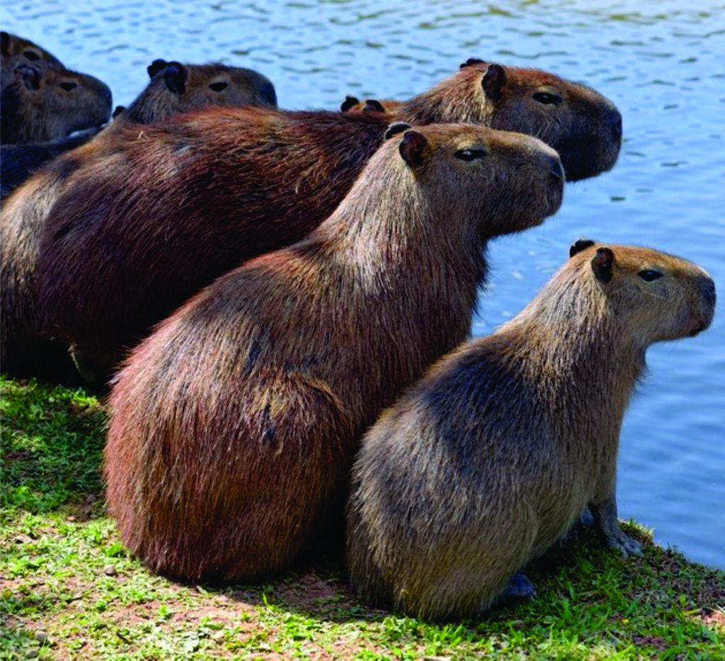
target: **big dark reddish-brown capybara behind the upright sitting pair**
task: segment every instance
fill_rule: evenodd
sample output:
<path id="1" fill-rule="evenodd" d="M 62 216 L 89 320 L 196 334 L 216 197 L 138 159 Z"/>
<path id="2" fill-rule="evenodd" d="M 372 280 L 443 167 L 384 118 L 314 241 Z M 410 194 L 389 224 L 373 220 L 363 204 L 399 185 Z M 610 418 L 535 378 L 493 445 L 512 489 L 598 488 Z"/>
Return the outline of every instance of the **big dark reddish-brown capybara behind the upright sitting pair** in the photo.
<path id="1" fill-rule="evenodd" d="M 541 89 L 558 103 L 538 101 Z M 620 142 L 621 118 L 604 97 L 500 65 L 464 67 L 395 115 L 209 109 L 129 132 L 77 173 L 49 214 L 43 327 L 97 372 L 112 369 L 215 277 L 318 226 L 387 122 L 406 117 L 544 134 L 576 176 L 610 168 Z"/>

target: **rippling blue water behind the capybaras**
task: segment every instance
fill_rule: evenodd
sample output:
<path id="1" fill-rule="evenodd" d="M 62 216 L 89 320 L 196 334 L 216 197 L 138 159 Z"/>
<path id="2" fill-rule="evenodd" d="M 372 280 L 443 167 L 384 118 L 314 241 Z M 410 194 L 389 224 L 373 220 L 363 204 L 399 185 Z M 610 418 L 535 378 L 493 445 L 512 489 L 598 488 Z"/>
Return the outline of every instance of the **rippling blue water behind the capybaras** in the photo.
<path id="1" fill-rule="evenodd" d="M 406 98 L 468 57 L 586 81 L 624 115 L 611 173 L 569 185 L 543 226 L 497 241 L 474 332 L 518 312 L 580 236 L 651 245 L 708 269 L 708 332 L 655 345 L 626 415 L 620 515 L 725 568 L 725 4 L 721 1 L 4 0 L 2 29 L 93 73 L 127 104 L 157 57 L 220 59 L 276 84 L 281 107 Z"/>

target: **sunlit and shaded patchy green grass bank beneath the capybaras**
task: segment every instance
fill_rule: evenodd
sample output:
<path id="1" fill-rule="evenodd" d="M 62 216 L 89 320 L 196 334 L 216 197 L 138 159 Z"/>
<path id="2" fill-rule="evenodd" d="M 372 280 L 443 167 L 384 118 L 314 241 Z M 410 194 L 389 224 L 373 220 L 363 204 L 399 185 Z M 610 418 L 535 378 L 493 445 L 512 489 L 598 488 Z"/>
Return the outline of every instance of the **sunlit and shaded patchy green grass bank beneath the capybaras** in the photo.
<path id="1" fill-rule="evenodd" d="M 527 570 L 536 599 L 456 623 L 370 609 L 328 565 L 224 590 L 158 578 L 104 513 L 99 401 L 0 388 L 0 658 L 725 660 L 725 572 L 632 524 L 644 557 L 581 530 Z"/>

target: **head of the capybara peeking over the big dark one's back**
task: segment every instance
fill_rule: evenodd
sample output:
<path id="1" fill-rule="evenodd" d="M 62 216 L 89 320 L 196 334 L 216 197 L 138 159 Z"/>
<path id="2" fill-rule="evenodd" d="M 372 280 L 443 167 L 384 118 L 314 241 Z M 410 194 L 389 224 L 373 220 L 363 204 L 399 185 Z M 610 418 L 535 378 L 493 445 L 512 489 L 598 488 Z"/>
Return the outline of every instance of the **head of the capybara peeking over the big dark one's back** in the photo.
<path id="1" fill-rule="evenodd" d="M 149 85 L 121 115 L 134 123 L 152 123 L 211 105 L 277 107 L 272 82 L 251 69 L 182 65 L 165 59 L 154 59 L 146 69 Z"/>

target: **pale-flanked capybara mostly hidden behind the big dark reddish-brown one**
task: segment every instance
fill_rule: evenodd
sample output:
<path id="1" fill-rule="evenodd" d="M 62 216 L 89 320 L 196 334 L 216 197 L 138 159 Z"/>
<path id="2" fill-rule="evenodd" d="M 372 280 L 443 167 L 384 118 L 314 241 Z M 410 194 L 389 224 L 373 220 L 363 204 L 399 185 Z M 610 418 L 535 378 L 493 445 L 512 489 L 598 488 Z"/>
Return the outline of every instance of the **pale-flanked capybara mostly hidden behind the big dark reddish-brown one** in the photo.
<path id="1" fill-rule="evenodd" d="M 143 139 L 138 124 L 167 118 L 210 104 L 235 106 L 259 104 L 273 107 L 276 94 L 265 76 L 249 69 L 220 64 L 182 65 L 156 59 L 147 67 L 149 84 L 113 122 L 88 144 L 48 163 L 8 198 L 3 208 L 0 246 L 0 366 L 14 376 L 57 378 L 65 373 L 65 356 L 43 343 L 36 316 L 36 263 L 46 216 L 76 171 L 88 163 L 114 167 L 117 139 Z M 19 146 L 17 147 L 20 148 Z M 4 153 L 4 152 L 3 152 Z M 3 168 L 5 160 L 3 155 Z M 7 165 L 12 165 L 10 161 Z M 4 169 L 3 169 L 4 173 Z M 22 176 L 20 173 L 18 176 Z M 81 175 L 82 177 L 82 175 Z M 3 183 L 5 176 L 3 175 Z M 65 353 L 62 348 L 61 354 Z"/>

